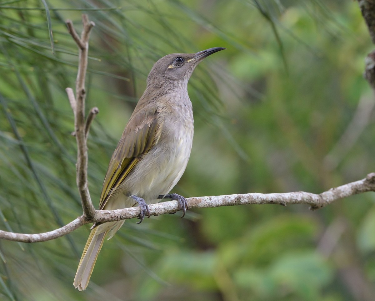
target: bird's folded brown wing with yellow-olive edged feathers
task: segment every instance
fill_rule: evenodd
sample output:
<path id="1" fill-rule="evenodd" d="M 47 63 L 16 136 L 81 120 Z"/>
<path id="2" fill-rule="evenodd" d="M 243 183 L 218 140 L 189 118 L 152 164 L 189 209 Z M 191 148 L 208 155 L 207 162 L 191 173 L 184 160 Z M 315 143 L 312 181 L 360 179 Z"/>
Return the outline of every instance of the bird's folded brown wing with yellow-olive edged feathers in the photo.
<path id="1" fill-rule="evenodd" d="M 141 155 L 147 153 L 159 140 L 157 114 L 155 107 L 149 107 L 134 111 L 130 117 L 108 166 L 99 202 L 100 210 L 139 162 Z"/>

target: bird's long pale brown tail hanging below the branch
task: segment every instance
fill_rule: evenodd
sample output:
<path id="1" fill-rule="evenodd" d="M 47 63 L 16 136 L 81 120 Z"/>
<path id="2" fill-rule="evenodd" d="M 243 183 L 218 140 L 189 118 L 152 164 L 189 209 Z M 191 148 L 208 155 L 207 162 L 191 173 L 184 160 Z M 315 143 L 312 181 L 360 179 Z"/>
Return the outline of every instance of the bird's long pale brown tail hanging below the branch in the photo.
<path id="1" fill-rule="evenodd" d="M 78 265 L 77 273 L 74 277 L 73 284 L 78 290 L 86 289 L 87 284 L 89 284 L 96 259 L 98 258 L 99 252 L 103 246 L 104 237 L 108 232 L 108 230 L 98 231 L 98 228 L 100 228 L 100 226 L 91 230 Z"/>

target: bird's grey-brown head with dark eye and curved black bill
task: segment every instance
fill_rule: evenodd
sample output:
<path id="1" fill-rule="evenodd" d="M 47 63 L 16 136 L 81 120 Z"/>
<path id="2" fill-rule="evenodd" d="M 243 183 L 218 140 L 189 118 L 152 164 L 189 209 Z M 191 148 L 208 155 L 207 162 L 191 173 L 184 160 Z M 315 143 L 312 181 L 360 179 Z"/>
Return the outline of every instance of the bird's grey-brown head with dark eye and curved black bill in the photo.
<path id="1" fill-rule="evenodd" d="M 173 53 L 159 59 L 148 74 L 151 79 L 189 80 L 196 65 L 205 57 L 226 48 L 214 47 L 197 53 Z"/>

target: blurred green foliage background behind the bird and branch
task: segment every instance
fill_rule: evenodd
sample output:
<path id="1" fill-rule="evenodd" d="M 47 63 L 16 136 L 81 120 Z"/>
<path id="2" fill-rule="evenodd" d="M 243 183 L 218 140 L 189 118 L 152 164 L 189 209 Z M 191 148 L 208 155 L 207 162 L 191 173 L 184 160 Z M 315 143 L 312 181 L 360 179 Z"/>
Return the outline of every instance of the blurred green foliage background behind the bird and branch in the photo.
<path id="1" fill-rule="evenodd" d="M 356 1 L 2 0 L 0 228 L 39 233 L 82 214 L 73 114 L 78 50 L 90 39 L 87 111 L 95 206 L 108 161 L 153 63 L 214 54 L 189 83 L 195 136 L 173 190 L 186 197 L 309 191 L 375 171 L 374 48 Z M 51 32 L 53 37 L 51 37 Z M 51 42 L 52 41 L 52 42 Z M 0 241 L 0 300 L 374 300 L 375 194 L 308 206 L 233 206 L 126 221 L 89 288 L 72 282 L 86 225 L 53 241 Z"/>

